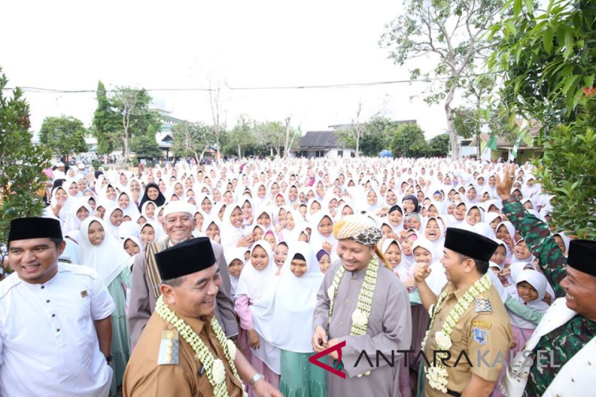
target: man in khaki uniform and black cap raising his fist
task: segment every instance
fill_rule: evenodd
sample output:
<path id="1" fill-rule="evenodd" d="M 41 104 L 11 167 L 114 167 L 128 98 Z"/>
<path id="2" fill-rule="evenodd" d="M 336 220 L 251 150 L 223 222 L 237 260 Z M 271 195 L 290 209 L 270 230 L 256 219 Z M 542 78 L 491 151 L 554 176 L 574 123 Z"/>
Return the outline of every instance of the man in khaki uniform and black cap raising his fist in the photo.
<path id="1" fill-rule="evenodd" d="M 421 362 L 418 376 L 425 396 L 489 396 L 495 388 L 511 343 L 507 310 L 487 273 L 497 246 L 478 233 L 448 227 L 440 259 L 448 283 L 439 296 L 425 281 L 429 267 L 415 265 L 418 293 L 430 314 L 421 346 L 429 362 Z M 439 357 L 438 351 L 449 353 Z"/>

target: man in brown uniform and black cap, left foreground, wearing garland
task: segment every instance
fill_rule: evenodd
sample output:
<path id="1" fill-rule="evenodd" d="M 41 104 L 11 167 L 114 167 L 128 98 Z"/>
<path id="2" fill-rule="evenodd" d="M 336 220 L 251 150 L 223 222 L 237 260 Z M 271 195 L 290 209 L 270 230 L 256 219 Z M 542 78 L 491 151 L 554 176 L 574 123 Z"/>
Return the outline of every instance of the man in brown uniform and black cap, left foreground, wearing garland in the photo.
<path id="1" fill-rule="evenodd" d="M 207 237 L 156 255 L 160 296 L 124 374 L 125 397 L 282 397 L 226 339 L 215 319 L 221 270 Z"/>

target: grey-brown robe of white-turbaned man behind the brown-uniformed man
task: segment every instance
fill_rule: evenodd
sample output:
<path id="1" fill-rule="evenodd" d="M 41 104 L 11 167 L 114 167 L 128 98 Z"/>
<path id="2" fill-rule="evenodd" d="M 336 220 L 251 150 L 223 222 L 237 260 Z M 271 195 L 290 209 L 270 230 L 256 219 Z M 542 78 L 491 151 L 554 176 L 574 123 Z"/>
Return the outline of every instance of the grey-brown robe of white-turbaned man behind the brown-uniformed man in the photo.
<path id="1" fill-rule="evenodd" d="M 169 244 L 170 245 L 170 244 Z M 231 283 L 229 281 L 228 264 L 224 258 L 224 249 L 221 245 L 211 242 L 213 254 L 219 266 L 222 286 L 216 295 L 215 317 L 228 337 L 238 335 L 238 323 L 234 312 L 234 302 L 231 296 Z M 132 265 L 131 302 L 128 308 L 128 329 L 131 334 L 131 348 L 141 337 L 151 314 L 155 311 L 156 298 L 153 296 L 153 287 L 147 277 L 145 269 L 145 252 L 135 255 Z"/>

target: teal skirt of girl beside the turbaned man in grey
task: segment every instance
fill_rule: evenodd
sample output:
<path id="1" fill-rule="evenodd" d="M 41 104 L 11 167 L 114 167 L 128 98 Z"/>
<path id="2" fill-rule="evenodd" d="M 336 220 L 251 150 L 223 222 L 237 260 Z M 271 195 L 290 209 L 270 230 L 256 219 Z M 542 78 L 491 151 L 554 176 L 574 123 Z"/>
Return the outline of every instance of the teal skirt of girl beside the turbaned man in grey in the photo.
<path id="1" fill-rule="evenodd" d="M 311 364 L 315 353 L 281 351 L 280 392 L 284 397 L 327 397 L 327 371 Z"/>

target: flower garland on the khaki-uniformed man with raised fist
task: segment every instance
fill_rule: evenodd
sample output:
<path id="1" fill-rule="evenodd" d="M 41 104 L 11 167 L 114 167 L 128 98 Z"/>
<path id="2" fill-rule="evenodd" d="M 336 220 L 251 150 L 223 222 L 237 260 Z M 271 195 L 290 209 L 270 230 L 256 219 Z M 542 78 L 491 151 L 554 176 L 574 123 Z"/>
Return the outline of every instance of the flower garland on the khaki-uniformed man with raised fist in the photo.
<path id="1" fill-rule="evenodd" d="M 484 276 L 480 277 L 479 280 L 476 280 L 476 282 L 464 293 L 464 296 L 462 296 L 461 299 L 458 300 L 457 304 L 455 304 L 455 306 L 451 309 L 451 311 L 449 311 L 447 318 L 443 322 L 443 327 L 441 330 L 434 333 L 434 341 L 437 344 L 437 348 L 440 350 L 449 350 L 451 348 L 451 332 L 453 331 L 455 324 L 460 321 L 461 316 L 465 313 L 465 311 L 468 310 L 472 302 L 474 302 L 481 293 L 486 292 L 486 290 L 488 290 L 491 286 L 491 279 L 489 279 L 488 274 L 485 274 Z M 437 304 L 431 305 L 429 308 L 430 324 L 429 329 L 427 329 L 424 339 L 421 343 L 422 349 L 424 349 L 424 346 L 426 346 L 426 340 L 429 337 L 430 330 L 433 329 L 436 312 L 447 295 L 447 290 L 443 290 L 437 299 Z M 430 387 L 446 393 L 447 383 L 449 381 L 447 379 L 447 368 L 445 368 L 442 361 L 440 360 L 443 357 L 446 358 L 447 355 L 445 353 L 437 354 L 437 358 L 439 358 L 439 360 L 437 360 L 436 367 L 424 367 L 424 372 L 426 373 L 426 379 L 429 380 Z"/>

